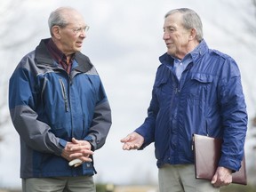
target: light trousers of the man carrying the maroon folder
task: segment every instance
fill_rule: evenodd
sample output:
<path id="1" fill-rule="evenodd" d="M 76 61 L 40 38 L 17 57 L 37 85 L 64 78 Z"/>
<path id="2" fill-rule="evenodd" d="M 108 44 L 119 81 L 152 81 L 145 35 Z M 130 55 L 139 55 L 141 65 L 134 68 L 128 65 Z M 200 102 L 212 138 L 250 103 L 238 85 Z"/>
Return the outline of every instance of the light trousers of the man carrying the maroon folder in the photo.
<path id="1" fill-rule="evenodd" d="M 160 192 L 220 192 L 209 180 L 196 180 L 194 164 L 164 164 L 158 170 Z"/>

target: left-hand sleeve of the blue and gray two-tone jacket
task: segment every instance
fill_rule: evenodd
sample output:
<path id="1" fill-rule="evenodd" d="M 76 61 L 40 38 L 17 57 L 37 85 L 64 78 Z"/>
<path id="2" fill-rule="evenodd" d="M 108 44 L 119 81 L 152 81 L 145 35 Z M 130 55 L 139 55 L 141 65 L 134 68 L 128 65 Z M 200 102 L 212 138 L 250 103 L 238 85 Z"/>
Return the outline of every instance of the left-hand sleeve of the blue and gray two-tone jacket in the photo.
<path id="1" fill-rule="evenodd" d="M 20 140 L 25 142 L 29 148 L 43 153 L 59 155 L 66 145 L 64 140 L 56 138 L 50 127 L 37 120 L 36 105 L 36 77 L 33 71 L 31 59 L 24 58 L 14 70 L 9 82 L 9 108 L 12 124 L 20 134 Z M 26 66 L 26 67 L 24 67 Z M 35 69 L 35 68 L 34 68 Z"/>

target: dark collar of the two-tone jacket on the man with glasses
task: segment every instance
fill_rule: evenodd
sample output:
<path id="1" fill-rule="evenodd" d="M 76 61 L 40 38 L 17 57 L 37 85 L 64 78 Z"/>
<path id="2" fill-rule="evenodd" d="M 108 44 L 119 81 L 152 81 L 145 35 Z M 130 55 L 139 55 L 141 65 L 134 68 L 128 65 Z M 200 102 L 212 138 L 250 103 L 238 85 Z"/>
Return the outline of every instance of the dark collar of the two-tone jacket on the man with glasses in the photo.
<path id="1" fill-rule="evenodd" d="M 50 41 L 50 38 L 42 39 L 40 44 L 36 47 L 36 65 L 44 65 L 51 68 L 58 68 L 58 65 L 54 62 L 50 52 L 46 47 L 48 41 Z M 75 53 L 75 60 L 78 64 L 75 69 L 83 73 L 89 71 L 93 67 L 92 62 L 89 60 L 89 58 L 81 52 Z"/>

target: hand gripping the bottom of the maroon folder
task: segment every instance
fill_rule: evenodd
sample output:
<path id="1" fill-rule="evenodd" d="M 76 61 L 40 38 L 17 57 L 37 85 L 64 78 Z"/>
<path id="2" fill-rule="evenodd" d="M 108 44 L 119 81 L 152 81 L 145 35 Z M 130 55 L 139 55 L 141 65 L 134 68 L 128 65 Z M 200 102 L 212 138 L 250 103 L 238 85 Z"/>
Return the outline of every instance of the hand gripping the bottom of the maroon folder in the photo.
<path id="1" fill-rule="evenodd" d="M 220 188 L 221 186 L 228 186 L 231 182 L 232 171 L 225 167 L 218 167 L 211 181 L 212 185 L 215 188 Z"/>

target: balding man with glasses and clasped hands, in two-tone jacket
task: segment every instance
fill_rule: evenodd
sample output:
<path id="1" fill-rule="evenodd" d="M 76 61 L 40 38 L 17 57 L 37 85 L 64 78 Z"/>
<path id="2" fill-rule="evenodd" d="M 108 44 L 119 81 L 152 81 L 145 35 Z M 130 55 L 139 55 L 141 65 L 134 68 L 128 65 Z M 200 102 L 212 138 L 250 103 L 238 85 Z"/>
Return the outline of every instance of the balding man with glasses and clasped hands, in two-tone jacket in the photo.
<path id="1" fill-rule="evenodd" d="M 80 52 L 89 27 L 81 13 L 60 7 L 49 28 L 52 38 L 28 53 L 10 79 L 22 190 L 95 192 L 92 154 L 105 143 L 111 110 L 99 74 Z"/>

